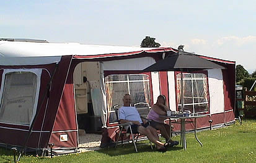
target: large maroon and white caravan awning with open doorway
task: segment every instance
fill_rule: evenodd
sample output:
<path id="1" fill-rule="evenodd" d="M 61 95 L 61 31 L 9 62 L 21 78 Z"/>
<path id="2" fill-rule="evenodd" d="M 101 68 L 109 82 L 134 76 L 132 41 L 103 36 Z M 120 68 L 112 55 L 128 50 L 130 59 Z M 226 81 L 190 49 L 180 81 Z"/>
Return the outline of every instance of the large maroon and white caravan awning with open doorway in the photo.
<path id="1" fill-rule="evenodd" d="M 113 106 L 130 93 L 149 107 L 159 94 L 172 111 L 180 108 L 180 72 L 145 72 L 172 48 L 100 46 L 46 41 L 0 41 L 0 146 L 26 146 L 45 153 L 75 152 L 79 128 L 116 141 Z M 184 106 L 209 116 L 198 128 L 234 122 L 235 62 L 200 56 L 226 69 L 183 73 Z M 193 126 L 187 126 L 188 129 Z M 174 130 L 179 130 L 175 126 Z"/>

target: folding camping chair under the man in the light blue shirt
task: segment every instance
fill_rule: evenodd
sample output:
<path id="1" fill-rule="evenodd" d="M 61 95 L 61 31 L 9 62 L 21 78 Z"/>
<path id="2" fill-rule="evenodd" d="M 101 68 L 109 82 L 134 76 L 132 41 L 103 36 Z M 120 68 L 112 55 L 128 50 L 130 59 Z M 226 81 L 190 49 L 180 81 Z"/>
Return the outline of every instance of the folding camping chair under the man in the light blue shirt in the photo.
<path id="1" fill-rule="evenodd" d="M 115 110 L 115 114 L 117 115 L 117 119 L 118 119 L 118 111 L 119 111 L 119 108 L 121 107 L 121 105 L 115 105 L 113 106 L 114 110 Z M 123 136 L 125 136 L 126 134 L 130 134 L 131 138 L 132 138 L 132 143 L 134 144 L 135 146 L 135 151 L 138 153 L 138 150 L 137 150 L 137 146 L 136 146 L 136 143 L 138 141 L 138 138 L 139 136 L 142 136 L 140 133 L 136 132 L 136 133 L 133 133 L 132 130 L 131 130 L 131 125 L 133 125 L 133 123 L 131 122 L 127 122 L 127 123 L 120 123 L 119 120 L 118 120 L 118 126 L 119 126 L 119 129 L 116 131 L 116 133 L 118 133 L 118 138 L 117 138 L 117 143 L 115 144 L 115 148 L 117 148 L 117 144 L 118 144 L 118 141 L 119 141 L 119 138 L 121 137 L 121 144 L 123 145 Z M 125 130 L 125 127 L 128 126 L 130 128 L 130 132 L 126 132 Z M 128 140 L 130 142 L 130 140 Z M 151 141 L 149 141 L 150 144 L 151 144 L 151 149 L 152 148 L 152 143 Z"/>

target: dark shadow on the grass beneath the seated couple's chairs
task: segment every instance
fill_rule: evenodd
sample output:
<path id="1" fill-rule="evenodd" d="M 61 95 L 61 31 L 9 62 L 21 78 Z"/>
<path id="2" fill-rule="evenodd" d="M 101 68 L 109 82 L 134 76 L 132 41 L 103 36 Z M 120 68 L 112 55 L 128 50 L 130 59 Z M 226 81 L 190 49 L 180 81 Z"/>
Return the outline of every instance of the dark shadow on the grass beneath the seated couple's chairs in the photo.
<path id="1" fill-rule="evenodd" d="M 137 144 L 138 153 L 161 153 L 157 151 L 156 148 L 151 149 L 151 146 L 148 144 Z M 175 147 L 169 147 L 167 151 L 178 151 L 182 150 L 181 146 L 175 146 Z M 126 154 L 135 154 L 135 147 L 133 144 L 125 144 L 123 146 L 119 145 L 117 148 L 104 148 L 100 149 L 99 151 L 95 151 L 97 153 L 107 154 L 108 156 L 120 156 L 120 155 L 126 155 Z"/>

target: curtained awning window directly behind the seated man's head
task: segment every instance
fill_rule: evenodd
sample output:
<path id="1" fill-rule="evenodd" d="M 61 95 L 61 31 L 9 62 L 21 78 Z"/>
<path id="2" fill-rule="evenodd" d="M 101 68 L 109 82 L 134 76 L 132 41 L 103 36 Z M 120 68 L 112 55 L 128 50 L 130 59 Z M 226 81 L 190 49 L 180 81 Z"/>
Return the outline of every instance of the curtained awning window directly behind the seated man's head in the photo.
<path id="1" fill-rule="evenodd" d="M 149 93 L 149 76 L 144 74 L 115 74 L 105 77 L 107 90 L 107 107 L 108 111 L 113 110 L 113 106 L 123 104 L 123 95 L 131 94 L 131 102 L 146 102 L 151 104 Z M 110 121 L 112 119 L 110 112 Z"/>

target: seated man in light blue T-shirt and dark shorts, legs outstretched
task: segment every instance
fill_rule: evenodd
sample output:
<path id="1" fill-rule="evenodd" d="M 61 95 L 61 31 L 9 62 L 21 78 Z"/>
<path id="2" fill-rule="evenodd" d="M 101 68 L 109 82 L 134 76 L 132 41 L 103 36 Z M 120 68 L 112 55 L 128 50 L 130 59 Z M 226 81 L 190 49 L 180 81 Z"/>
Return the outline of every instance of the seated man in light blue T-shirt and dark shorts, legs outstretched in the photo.
<path id="1" fill-rule="evenodd" d="M 130 94 L 125 94 L 123 96 L 123 107 L 119 109 L 119 120 L 120 123 L 131 122 L 131 130 L 133 133 L 141 133 L 148 137 L 149 141 L 156 144 L 158 151 L 166 152 L 169 146 L 169 143 L 161 143 L 159 141 L 156 129 L 152 128 L 149 123 L 143 123 L 139 112 L 135 107 L 131 107 L 131 96 Z M 128 126 L 125 128 L 129 132 L 130 128 Z"/>

